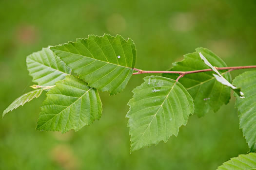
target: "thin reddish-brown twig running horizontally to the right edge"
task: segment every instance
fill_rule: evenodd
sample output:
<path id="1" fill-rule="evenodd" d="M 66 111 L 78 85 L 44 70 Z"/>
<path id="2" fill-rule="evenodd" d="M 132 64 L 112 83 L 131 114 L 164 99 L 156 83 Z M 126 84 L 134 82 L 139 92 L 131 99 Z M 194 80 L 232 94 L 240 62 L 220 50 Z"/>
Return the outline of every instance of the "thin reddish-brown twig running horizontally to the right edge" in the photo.
<path id="1" fill-rule="evenodd" d="M 235 70 L 235 69 L 247 69 L 247 68 L 256 68 L 256 66 L 237 66 L 237 67 L 224 67 L 224 68 L 217 68 L 217 70 L 223 70 L 223 69 L 228 69 L 229 71 Z M 135 74 L 145 74 L 145 73 L 169 73 L 169 74 L 180 74 L 180 75 L 186 75 L 186 74 L 192 74 L 192 73 L 198 73 L 198 72 L 206 72 L 206 71 L 212 71 L 211 68 L 209 69 L 200 69 L 200 70 L 193 70 L 193 71 L 144 71 L 141 69 L 133 68 L 134 70 L 138 72 L 134 72 L 133 75 Z M 182 77 L 183 77 L 182 76 Z"/>

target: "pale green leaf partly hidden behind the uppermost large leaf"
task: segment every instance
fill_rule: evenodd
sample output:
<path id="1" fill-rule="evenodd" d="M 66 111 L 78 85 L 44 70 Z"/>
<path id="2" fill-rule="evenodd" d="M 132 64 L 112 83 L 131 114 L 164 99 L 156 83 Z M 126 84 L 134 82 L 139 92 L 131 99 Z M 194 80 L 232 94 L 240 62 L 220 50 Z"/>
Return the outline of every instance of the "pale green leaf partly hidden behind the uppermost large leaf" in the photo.
<path id="1" fill-rule="evenodd" d="M 27 56 L 27 68 L 33 82 L 42 86 L 55 85 L 55 82 L 71 73 L 71 69 L 49 48 L 43 48 Z"/>

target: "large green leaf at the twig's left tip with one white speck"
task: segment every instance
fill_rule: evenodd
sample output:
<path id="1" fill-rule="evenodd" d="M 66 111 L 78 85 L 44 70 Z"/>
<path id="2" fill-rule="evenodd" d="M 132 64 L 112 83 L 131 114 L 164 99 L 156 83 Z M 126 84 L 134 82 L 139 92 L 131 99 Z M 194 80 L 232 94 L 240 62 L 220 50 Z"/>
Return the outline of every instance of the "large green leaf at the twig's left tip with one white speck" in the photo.
<path id="1" fill-rule="evenodd" d="M 87 39 L 77 39 L 51 50 L 90 87 L 109 91 L 111 95 L 125 88 L 136 62 L 133 41 L 126 41 L 120 35 L 89 35 Z"/>

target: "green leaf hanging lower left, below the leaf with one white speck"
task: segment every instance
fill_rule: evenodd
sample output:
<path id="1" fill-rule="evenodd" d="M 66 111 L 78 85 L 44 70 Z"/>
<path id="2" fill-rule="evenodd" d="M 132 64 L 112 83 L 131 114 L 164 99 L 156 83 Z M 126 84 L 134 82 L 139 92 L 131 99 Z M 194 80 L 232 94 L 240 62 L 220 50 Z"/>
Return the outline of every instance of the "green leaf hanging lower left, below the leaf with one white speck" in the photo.
<path id="1" fill-rule="evenodd" d="M 98 90 L 74 76 L 56 82 L 46 95 L 39 114 L 38 130 L 78 131 L 101 117 Z"/>

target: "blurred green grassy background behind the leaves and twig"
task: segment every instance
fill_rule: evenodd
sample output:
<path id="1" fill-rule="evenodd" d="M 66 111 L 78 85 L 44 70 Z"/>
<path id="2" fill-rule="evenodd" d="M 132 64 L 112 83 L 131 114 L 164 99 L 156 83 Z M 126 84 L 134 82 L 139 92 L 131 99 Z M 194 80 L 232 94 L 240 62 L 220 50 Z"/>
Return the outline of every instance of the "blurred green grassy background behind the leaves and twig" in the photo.
<path id="1" fill-rule="evenodd" d="M 132 38 L 145 70 L 166 70 L 197 47 L 228 66 L 255 65 L 255 11 L 255 0 L 0 0 L 0 110 L 31 90 L 27 55 L 88 34 Z M 166 144 L 130 154 L 126 103 L 144 76 L 116 96 L 100 93 L 102 118 L 77 133 L 35 130 L 45 95 L 8 113 L 0 170 L 215 170 L 248 152 L 232 96 L 217 113 L 190 117 Z"/>

